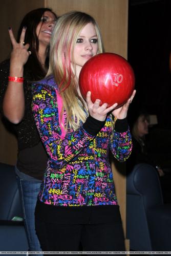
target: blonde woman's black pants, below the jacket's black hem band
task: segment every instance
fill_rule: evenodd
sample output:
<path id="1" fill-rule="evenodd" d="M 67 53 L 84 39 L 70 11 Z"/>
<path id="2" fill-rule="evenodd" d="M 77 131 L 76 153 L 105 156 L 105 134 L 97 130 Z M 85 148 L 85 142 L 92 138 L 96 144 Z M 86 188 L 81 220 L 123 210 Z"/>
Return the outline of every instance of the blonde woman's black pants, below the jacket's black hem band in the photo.
<path id="1" fill-rule="evenodd" d="M 43 251 L 124 251 L 121 223 L 52 224 L 36 220 Z"/>

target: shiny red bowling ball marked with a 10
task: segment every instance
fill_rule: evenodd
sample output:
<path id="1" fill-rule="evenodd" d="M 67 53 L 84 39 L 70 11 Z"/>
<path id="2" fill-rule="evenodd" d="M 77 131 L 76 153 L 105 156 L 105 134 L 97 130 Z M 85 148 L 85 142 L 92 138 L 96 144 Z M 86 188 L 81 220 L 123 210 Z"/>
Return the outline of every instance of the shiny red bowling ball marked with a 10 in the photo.
<path id="1" fill-rule="evenodd" d="M 115 53 L 100 53 L 89 59 L 81 69 L 79 88 L 84 99 L 91 91 L 91 100 L 100 104 L 123 105 L 131 97 L 135 86 L 132 67 Z"/>

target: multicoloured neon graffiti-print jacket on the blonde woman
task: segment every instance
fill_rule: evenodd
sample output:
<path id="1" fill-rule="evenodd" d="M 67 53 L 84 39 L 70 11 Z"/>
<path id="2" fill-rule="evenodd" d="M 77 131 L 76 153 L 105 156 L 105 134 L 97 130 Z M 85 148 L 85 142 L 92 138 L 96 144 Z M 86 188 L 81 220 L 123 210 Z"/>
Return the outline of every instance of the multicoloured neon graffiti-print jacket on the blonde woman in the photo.
<path id="1" fill-rule="evenodd" d="M 118 133 L 108 116 L 96 136 L 82 125 L 75 132 L 63 132 L 59 122 L 62 107 L 57 86 L 44 79 L 33 84 L 32 110 L 49 161 L 38 198 L 58 206 L 116 205 L 109 150 L 119 161 L 132 150 L 130 131 Z M 66 113 L 62 117 L 65 123 Z"/>

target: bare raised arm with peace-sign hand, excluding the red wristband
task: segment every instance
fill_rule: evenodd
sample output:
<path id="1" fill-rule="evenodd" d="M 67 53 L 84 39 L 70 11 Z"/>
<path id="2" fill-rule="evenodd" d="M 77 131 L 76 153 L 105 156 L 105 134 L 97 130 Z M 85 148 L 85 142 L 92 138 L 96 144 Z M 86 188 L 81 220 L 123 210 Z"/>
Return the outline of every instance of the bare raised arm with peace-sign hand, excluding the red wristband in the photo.
<path id="1" fill-rule="evenodd" d="M 9 76 L 23 77 L 24 65 L 27 62 L 31 52 L 28 51 L 29 44 L 24 45 L 26 28 L 23 28 L 19 43 L 15 40 L 12 29 L 9 29 L 9 35 L 12 43 L 12 52 L 10 58 Z M 19 123 L 25 113 L 25 96 L 23 82 L 9 81 L 3 101 L 3 111 L 6 118 L 12 123 Z"/>

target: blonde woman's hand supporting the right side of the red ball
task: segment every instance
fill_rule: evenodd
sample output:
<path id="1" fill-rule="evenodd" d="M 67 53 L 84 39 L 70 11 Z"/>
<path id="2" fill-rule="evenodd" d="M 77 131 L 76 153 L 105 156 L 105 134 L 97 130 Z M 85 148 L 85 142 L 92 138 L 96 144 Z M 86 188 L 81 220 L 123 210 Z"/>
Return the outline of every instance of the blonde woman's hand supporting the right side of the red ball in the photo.
<path id="1" fill-rule="evenodd" d="M 132 102 L 132 100 L 134 99 L 135 94 L 136 94 L 136 90 L 133 91 L 133 94 L 131 95 L 131 97 L 127 100 L 127 102 L 123 106 L 112 111 L 112 114 L 114 115 L 114 117 L 116 117 L 117 119 L 124 119 L 127 116 L 127 111 L 129 109 L 129 105 Z"/>

